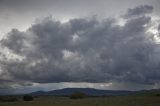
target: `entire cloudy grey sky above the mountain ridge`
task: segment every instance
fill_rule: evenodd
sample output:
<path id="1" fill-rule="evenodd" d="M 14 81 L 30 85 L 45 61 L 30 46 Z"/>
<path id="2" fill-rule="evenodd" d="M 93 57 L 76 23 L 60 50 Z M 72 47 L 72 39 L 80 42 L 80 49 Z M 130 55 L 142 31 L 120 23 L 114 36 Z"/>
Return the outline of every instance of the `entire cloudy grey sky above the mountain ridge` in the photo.
<path id="1" fill-rule="evenodd" d="M 160 88 L 160 0 L 0 0 L 0 94 Z"/>

